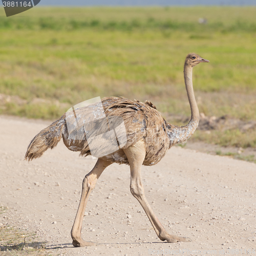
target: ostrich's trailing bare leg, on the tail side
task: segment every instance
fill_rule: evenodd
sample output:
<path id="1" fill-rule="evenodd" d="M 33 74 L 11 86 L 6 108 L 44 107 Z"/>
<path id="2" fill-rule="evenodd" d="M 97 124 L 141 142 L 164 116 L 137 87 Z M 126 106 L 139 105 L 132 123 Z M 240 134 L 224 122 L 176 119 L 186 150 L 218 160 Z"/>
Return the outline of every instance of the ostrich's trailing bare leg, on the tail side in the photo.
<path id="1" fill-rule="evenodd" d="M 76 212 L 75 221 L 71 229 L 71 237 L 73 239 L 72 244 L 75 247 L 95 245 L 93 242 L 86 242 L 81 238 L 82 220 L 84 211 L 86 210 L 89 195 L 95 187 L 96 182 L 99 176 L 102 174 L 103 170 L 110 164 L 111 162 L 106 162 L 99 158 L 91 172 L 87 174 L 83 179 L 81 199 Z"/>

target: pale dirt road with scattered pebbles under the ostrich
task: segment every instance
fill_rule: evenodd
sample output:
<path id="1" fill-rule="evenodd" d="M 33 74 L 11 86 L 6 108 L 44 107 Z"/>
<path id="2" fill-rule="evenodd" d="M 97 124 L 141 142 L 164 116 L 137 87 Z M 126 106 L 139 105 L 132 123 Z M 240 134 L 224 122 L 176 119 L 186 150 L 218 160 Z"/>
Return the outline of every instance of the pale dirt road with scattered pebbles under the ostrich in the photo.
<path id="1" fill-rule="evenodd" d="M 50 123 L 0 116 L 0 124 L 0 204 L 9 208 L 0 223 L 36 231 L 52 255 L 240 255 L 256 247 L 256 164 L 175 146 L 159 164 L 143 166 L 143 184 L 169 233 L 192 242 L 160 241 L 130 193 L 129 166 L 113 164 L 83 221 L 84 240 L 98 245 L 74 248 L 70 230 L 81 182 L 95 160 L 79 158 L 61 141 L 28 163 L 30 140 Z"/>

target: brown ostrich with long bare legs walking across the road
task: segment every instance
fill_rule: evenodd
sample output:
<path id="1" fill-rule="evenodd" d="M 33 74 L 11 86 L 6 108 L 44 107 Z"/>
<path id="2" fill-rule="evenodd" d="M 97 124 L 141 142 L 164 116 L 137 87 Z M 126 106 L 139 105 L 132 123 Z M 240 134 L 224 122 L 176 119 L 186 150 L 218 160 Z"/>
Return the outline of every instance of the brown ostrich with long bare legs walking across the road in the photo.
<path id="1" fill-rule="evenodd" d="M 188 54 L 184 64 L 184 80 L 187 96 L 191 109 L 191 119 L 185 126 L 176 126 L 166 122 L 156 110 L 156 107 L 150 102 L 145 103 L 137 100 L 129 100 L 122 97 L 105 97 L 101 100 L 106 119 L 121 117 L 125 126 L 125 143 L 118 145 L 118 150 L 108 155 L 98 157 L 98 160 L 82 182 L 81 199 L 77 209 L 77 214 L 71 230 L 72 244 L 75 247 L 94 245 L 93 242 L 86 242 L 81 238 L 82 220 L 84 211 L 88 202 L 89 195 L 96 185 L 96 182 L 103 170 L 112 163 L 128 164 L 131 169 L 130 189 L 132 195 L 139 201 L 143 207 L 148 219 L 150 220 L 158 238 L 169 243 L 189 242 L 186 237 L 177 237 L 169 234 L 161 225 L 154 214 L 150 204 L 148 204 L 141 179 L 141 166 L 153 165 L 158 163 L 166 154 L 167 150 L 177 143 L 187 140 L 199 123 L 199 110 L 196 103 L 193 83 L 192 70 L 198 63 L 209 62 L 197 54 Z M 77 120 L 95 115 L 97 104 L 91 104 L 75 110 Z M 74 110 L 73 110 L 74 111 Z M 79 133 L 84 133 L 87 128 L 83 125 L 76 125 L 75 119 L 67 112 L 58 120 L 49 125 L 46 129 L 39 132 L 30 142 L 25 159 L 28 161 L 40 157 L 48 148 L 57 145 L 60 139 L 63 139 L 65 145 L 71 151 L 79 151 L 81 156 L 92 155 L 87 139 L 80 139 Z M 113 122 L 113 121 L 112 121 Z M 72 123 L 72 129 L 68 129 L 69 123 Z M 109 124 L 94 124 L 94 130 L 104 131 L 104 127 Z M 107 129 L 107 130 L 108 130 Z M 106 130 L 106 129 L 105 129 Z M 73 136 L 73 137 L 72 137 Z M 123 136 L 123 134 L 121 135 Z M 118 137 L 118 136 L 117 136 Z M 120 137 L 118 137 L 118 140 Z M 102 146 L 102 140 L 98 140 L 98 146 Z"/>

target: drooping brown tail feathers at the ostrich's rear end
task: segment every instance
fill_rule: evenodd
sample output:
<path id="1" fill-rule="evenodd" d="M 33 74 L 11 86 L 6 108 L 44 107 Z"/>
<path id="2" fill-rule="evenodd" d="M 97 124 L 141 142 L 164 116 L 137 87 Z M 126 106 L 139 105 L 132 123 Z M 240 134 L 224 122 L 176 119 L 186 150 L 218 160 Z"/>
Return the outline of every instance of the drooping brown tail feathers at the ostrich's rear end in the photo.
<path id="1" fill-rule="evenodd" d="M 54 148 L 62 137 L 62 129 L 65 125 L 65 115 L 39 132 L 30 142 L 25 159 L 31 161 L 38 158 L 48 150 Z"/>

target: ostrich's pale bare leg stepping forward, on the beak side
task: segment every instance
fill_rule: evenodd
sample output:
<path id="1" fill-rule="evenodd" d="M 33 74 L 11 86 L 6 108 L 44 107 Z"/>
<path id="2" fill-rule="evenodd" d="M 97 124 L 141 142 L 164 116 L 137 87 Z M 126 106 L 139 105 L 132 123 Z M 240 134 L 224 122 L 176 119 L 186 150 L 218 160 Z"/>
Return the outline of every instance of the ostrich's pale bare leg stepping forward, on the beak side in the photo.
<path id="1" fill-rule="evenodd" d="M 145 158 L 144 143 L 142 141 L 138 141 L 135 145 L 130 146 L 123 151 L 127 156 L 131 168 L 131 193 L 143 207 L 159 239 L 162 241 L 166 240 L 169 243 L 191 241 L 189 238 L 177 237 L 172 234 L 168 234 L 160 221 L 157 219 L 151 206 L 146 200 L 146 197 L 144 195 L 144 188 L 141 181 L 141 165 Z"/>

